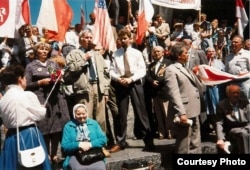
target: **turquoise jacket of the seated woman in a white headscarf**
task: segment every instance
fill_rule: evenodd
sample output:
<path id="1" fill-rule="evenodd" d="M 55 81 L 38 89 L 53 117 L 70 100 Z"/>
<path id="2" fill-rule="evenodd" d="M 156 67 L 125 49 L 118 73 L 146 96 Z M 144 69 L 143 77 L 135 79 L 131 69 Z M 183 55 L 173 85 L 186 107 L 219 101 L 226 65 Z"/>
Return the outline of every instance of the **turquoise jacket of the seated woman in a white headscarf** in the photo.
<path id="1" fill-rule="evenodd" d="M 67 124 L 65 124 L 64 129 L 63 129 L 63 137 L 62 137 L 62 151 L 66 155 L 66 159 L 63 163 L 63 168 L 67 169 L 69 165 L 69 158 L 71 155 L 74 154 L 76 150 L 79 149 L 79 142 L 76 140 L 77 136 L 77 121 L 76 120 L 71 120 Z M 107 137 L 103 133 L 100 125 L 97 123 L 97 121 L 88 118 L 87 119 L 87 126 L 89 129 L 89 137 L 90 137 L 90 142 L 92 144 L 93 148 L 102 148 L 106 145 L 107 143 Z"/>

